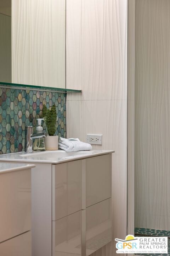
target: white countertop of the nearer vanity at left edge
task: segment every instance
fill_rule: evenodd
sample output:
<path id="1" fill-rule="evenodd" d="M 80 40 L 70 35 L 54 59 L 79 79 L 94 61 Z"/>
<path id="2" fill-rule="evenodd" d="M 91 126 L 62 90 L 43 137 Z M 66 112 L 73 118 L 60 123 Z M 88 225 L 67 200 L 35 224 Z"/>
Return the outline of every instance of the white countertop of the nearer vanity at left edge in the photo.
<path id="1" fill-rule="evenodd" d="M 0 162 L 0 174 L 3 174 L 4 172 L 22 171 L 26 169 L 31 169 L 33 167 L 35 167 L 35 165 L 33 164 L 13 164 Z"/>

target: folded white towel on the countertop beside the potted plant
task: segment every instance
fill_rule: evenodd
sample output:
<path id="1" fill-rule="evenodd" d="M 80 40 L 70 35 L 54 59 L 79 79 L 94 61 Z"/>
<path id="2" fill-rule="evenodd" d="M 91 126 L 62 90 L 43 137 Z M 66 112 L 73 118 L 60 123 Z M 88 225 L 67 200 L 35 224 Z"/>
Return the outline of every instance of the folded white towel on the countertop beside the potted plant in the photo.
<path id="1" fill-rule="evenodd" d="M 65 151 L 82 151 L 91 150 L 92 146 L 89 143 L 80 142 L 78 138 L 65 139 L 60 137 L 58 140 L 58 146 Z"/>

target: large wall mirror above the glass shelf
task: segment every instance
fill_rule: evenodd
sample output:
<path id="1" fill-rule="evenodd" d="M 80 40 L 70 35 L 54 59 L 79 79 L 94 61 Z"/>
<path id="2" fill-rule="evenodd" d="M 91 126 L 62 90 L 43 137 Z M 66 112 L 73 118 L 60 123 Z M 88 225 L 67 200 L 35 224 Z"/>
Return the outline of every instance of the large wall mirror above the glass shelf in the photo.
<path id="1" fill-rule="evenodd" d="M 0 19 L 0 81 L 65 89 L 66 0 L 1 0 Z"/>

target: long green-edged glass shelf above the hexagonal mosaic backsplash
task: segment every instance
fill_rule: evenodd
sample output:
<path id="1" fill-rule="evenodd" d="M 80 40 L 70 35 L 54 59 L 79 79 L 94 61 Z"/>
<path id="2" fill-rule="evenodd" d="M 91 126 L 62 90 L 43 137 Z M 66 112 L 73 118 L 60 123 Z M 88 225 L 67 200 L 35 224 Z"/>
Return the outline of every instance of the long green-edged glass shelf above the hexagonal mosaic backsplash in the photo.
<path id="1" fill-rule="evenodd" d="M 25 89 L 25 90 L 63 92 L 63 93 L 81 93 L 81 90 L 46 87 L 46 86 L 38 86 L 38 85 L 13 84 L 13 83 L 7 83 L 7 82 L 0 82 L 0 87 L 22 89 L 22 90 Z"/>

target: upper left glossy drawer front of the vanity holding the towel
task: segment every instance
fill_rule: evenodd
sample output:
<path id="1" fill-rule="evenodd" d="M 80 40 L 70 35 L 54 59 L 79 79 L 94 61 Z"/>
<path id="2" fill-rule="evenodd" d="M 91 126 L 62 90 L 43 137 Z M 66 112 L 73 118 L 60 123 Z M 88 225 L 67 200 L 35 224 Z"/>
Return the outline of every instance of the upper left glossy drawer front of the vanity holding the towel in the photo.
<path id="1" fill-rule="evenodd" d="M 81 210 L 81 160 L 52 165 L 52 220 Z"/>

